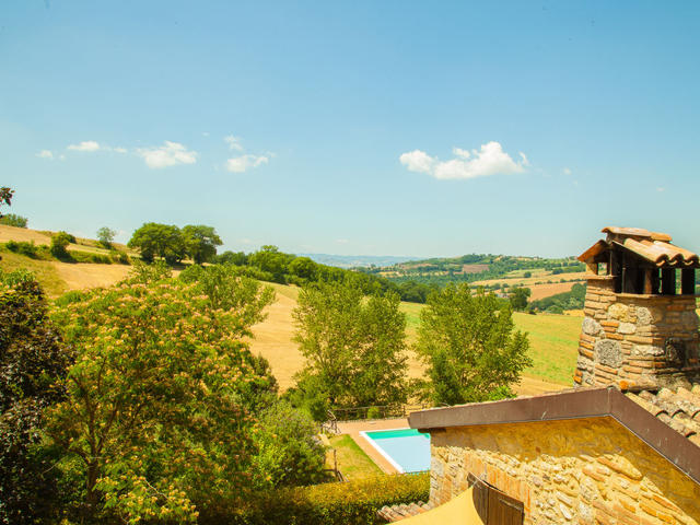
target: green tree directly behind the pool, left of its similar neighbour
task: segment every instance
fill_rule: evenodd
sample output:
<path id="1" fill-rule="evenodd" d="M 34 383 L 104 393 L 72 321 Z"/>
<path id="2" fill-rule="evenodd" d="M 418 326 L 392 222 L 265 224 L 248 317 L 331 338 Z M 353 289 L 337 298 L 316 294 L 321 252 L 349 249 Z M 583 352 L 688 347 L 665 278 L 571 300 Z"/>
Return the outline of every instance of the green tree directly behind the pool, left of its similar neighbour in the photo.
<path id="1" fill-rule="evenodd" d="M 365 299 L 350 281 L 319 282 L 302 289 L 298 302 L 295 340 L 306 358 L 299 402 L 322 418 L 327 408 L 406 400 L 406 318 L 397 294 Z"/>

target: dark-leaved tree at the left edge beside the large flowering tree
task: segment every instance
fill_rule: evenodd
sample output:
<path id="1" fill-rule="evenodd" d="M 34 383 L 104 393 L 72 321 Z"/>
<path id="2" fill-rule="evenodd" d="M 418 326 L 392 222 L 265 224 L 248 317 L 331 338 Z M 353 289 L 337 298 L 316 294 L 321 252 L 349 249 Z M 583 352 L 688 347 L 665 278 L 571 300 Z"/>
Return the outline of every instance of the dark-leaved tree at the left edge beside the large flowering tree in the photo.
<path id="1" fill-rule="evenodd" d="M 0 523 L 57 516 L 57 472 L 42 445 L 42 413 L 65 397 L 60 380 L 70 363 L 32 275 L 0 270 Z"/>

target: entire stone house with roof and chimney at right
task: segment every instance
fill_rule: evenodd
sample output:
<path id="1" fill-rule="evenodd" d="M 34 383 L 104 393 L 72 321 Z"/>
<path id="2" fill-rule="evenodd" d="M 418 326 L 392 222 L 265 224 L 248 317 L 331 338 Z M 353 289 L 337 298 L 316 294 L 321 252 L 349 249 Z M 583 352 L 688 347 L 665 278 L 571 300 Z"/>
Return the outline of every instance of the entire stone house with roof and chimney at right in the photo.
<path id="1" fill-rule="evenodd" d="M 479 487 L 485 524 L 700 524 L 698 256 L 603 232 L 580 257 L 574 388 L 411 413 L 431 435 L 431 506 Z"/>

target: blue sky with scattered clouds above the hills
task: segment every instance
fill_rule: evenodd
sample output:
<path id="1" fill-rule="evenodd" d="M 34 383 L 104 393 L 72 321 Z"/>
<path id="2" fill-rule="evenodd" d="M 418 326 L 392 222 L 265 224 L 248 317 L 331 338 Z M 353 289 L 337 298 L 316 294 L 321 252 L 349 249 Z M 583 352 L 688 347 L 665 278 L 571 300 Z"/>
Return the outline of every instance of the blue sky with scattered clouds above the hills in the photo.
<path id="1" fill-rule="evenodd" d="M 0 185 L 36 229 L 225 248 L 700 249 L 699 2 L 9 0 Z"/>

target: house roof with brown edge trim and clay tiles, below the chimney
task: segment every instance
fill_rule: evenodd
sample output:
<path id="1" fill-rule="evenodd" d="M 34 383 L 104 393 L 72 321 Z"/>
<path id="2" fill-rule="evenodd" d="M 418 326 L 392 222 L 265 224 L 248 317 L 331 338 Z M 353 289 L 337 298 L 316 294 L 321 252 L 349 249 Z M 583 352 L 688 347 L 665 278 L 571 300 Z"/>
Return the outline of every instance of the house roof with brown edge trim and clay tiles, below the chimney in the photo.
<path id="1" fill-rule="evenodd" d="M 700 419 L 700 412 L 695 411 L 700 386 L 693 386 L 692 390 L 666 390 L 635 395 L 623 394 L 614 386 L 572 388 L 500 401 L 432 408 L 412 412 L 408 421 L 411 428 L 429 432 L 457 427 L 608 417 L 700 485 L 700 429 L 695 424 Z"/>

